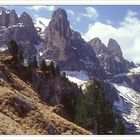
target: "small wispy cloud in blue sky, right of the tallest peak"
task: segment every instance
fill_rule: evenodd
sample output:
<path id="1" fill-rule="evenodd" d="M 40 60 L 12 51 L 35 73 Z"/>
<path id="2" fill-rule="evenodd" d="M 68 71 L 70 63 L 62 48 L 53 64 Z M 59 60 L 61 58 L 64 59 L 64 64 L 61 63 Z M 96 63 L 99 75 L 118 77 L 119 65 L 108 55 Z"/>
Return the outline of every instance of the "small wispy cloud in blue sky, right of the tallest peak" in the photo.
<path id="1" fill-rule="evenodd" d="M 77 21 L 80 21 L 82 17 L 86 17 L 86 18 L 89 18 L 89 19 L 92 19 L 92 20 L 96 20 L 99 16 L 97 10 L 93 7 L 86 7 L 85 11 L 86 11 L 85 13 L 81 13 L 76 18 Z"/>

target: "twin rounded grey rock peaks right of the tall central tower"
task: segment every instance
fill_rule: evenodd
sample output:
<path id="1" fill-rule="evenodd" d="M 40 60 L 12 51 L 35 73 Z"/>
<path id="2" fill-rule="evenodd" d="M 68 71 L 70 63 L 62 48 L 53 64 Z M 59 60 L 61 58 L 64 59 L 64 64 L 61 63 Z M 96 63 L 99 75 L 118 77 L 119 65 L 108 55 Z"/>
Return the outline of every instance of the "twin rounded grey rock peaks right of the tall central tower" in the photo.
<path id="1" fill-rule="evenodd" d="M 92 49 L 95 51 L 100 65 L 104 69 L 108 78 L 116 74 L 128 72 L 130 67 L 134 67 L 133 63 L 125 60 L 119 44 L 110 39 L 106 47 L 99 38 L 89 41 Z"/>

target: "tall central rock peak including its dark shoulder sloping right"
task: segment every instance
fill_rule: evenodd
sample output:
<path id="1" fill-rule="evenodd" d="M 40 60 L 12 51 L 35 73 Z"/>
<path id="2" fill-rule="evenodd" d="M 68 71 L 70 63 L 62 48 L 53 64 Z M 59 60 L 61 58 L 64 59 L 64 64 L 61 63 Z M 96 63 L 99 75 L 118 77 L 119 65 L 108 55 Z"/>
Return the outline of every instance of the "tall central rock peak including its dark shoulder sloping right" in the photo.
<path id="1" fill-rule="evenodd" d="M 85 70 L 90 76 L 100 75 L 101 68 L 94 51 L 82 39 L 80 33 L 70 28 L 63 9 L 54 11 L 45 31 L 45 44 L 42 50 L 43 57 L 56 61 L 61 70 Z"/>

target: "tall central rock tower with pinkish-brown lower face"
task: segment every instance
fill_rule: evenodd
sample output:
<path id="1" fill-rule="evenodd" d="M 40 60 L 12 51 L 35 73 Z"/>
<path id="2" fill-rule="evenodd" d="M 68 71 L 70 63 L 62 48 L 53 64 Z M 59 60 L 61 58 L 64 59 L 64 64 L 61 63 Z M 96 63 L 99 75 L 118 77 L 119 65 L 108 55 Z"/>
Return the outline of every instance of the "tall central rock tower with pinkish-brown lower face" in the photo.
<path id="1" fill-rule="evenodd" d="M 67 14 L 63 9 L 57 9 L 52 15 L 52 20 L 45 32 L 46 47 L 44 53 L 48 59 L 66 60 L 66 47 L 69 47 L 71 29 Z"/>

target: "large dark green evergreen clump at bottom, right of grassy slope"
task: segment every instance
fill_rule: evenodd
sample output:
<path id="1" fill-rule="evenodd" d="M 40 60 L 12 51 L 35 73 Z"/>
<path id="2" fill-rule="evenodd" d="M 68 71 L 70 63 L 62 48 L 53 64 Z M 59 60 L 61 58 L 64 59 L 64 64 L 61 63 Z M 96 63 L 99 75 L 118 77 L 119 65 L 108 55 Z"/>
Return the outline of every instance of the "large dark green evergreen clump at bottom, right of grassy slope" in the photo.
<path id="1" fill-rule="evenodd" d="M 75 122 L 87 129 L 97 124 L 97 133 L 106 134 L 113 128 L 112 108 L 105 100 L 104 90 L 99 81 L 87 88 L 81 95 L 75 108 Z"/>

